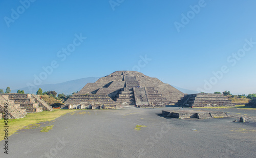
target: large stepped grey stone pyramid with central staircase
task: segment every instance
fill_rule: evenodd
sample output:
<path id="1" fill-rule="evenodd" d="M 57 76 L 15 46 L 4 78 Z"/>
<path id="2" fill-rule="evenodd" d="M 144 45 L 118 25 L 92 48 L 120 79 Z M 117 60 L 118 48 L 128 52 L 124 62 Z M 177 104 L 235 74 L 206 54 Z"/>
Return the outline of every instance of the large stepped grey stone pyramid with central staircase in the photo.
<path id="1" fill-rule="evenodd" d="M 87 83 L 61 108 L 164 107 L 174 105 L 183 95 L 157 78 L 136 71 L 116 71 L 95 83 Z"/>

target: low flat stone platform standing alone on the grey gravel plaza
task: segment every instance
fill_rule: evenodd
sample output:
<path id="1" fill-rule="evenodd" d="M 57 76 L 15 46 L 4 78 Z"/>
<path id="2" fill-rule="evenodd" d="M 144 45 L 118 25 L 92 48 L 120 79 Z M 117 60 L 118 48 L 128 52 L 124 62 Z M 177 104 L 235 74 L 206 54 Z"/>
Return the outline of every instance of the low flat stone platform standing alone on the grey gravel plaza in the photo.
<path id="1" fill-rule="evenodd" d="M 162 115 L 165 117 L 177 119 L 210 119 L 210 118 L 224 118 L 227 117 L 227 112 L 222 111 L 208 111 L 208 110 L 163 110 Z"/>

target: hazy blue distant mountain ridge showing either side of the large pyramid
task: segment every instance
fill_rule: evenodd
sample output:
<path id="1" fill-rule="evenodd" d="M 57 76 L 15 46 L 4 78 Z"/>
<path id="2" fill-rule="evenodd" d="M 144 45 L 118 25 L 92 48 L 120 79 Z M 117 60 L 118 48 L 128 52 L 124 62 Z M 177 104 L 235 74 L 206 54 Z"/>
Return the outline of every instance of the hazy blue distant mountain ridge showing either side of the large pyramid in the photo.
<path id="1" fill-rule="evenodd" d="M 70 95 L 73 92 L 80 91 L 84 85 L 87 83 L 93 83 L 96 82 L 100 77 L 87 77 L 87 78 L 81 78 L 77 80 L 71 80 L 67 82 L 62 82 L 62 83 L 56 83 L 56 84 L 44 84 L 44 85 L 39 85 L 39 86 L 34 86 L 32 89 L 32 92 L 30 92 L 28 87 L 23 87 L 23 88 L 18 88 L 11 90 L 11 93 L 17 93 L 17 91 L 24 90 L 25 93 L 33 93 L 36 94 L 38 91 L 38 88 L 42 89 L 42 92 L 46 91 L 55 91 L 58 94 L 65 94 L 65 95 Z M 196 94 L 198 93 L 197 91 L 189 90 L 189 89 L 184 89 L 180 88 L 177 86 L 172 85 L 173 87 L 177 88 L 179 91 L 185 93 L 185 94 Z M 3 89 L 5 92 L 5 89 Z"/>

